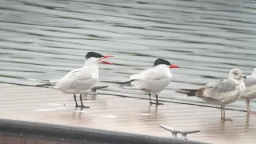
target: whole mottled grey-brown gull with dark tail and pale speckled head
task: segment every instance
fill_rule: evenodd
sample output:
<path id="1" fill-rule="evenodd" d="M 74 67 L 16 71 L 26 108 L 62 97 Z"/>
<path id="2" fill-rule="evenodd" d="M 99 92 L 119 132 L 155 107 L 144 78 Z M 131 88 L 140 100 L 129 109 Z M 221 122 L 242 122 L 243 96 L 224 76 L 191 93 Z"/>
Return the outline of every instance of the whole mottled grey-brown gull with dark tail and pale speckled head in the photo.
<path id="1" fill-rule="evenodd" d="M 210 104 L 221 105 L 222 121 L 232 121 L 230 118 L 225 118 L 225 105 L 237 101 L 243 90 L 246 89 L 242 78 L 246 78 L 246 76 L 242 74 L 241 70 L 235 68 L 230 70 L 228 79 L 211 82 L 197 90 L 180 89 L 176 92 L 202 98 Z"/>

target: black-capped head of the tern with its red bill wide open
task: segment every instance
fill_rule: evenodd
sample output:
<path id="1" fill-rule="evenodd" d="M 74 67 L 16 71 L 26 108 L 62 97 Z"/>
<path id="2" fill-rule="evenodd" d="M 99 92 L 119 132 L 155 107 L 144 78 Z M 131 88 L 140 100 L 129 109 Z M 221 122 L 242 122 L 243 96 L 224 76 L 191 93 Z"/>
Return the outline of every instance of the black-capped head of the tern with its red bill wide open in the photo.
<path id="1" fill-rule="evenodd" d="M 110 55 L 105 55 L 104 56 L 102 54 L 98 54 L 98 53 L 95 53 L 95 52 L 88 52 L 86 54 L 86 64 L 105 63 L 105 64 L 112 65 L 111 62 L 103 61 L 103 59 L 110 58 L 110 57 L 113 57 L 113 56 L 110 56 Z"/>

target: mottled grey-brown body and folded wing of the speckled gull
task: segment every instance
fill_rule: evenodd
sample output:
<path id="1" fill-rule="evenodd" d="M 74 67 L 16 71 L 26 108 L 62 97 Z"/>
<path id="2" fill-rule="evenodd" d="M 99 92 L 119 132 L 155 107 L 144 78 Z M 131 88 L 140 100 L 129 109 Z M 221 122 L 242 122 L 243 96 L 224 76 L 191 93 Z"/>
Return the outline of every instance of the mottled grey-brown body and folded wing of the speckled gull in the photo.
<path id="1" fill-rule="evenodd" d="M 229 79 L 219 80 L 202 86 L 196 91 L 196 96 L 210 99 L 228 99 L 238 95 L 237 86 Z"/>

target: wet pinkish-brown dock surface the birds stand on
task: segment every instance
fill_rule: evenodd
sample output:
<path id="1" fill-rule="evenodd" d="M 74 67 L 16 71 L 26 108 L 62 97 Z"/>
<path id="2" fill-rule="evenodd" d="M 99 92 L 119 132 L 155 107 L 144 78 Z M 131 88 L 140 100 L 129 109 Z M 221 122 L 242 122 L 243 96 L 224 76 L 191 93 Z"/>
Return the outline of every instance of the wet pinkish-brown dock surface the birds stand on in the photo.
<path id="1" fill-rule="evenodd" d="M 188 130 L 188 139 L 210 143 L 255 143 L 256 115 L 226 110 L 233 122 L 220 121 L 220 109 L 165 102 L 150 106 L 148 100 L 124 98 L 110 94 L 84 95 L 90 109 L 74 107 L 74 98 L 58 90 L 34 86 L 0 84 L 0 117 L 82 126 L 136 134 L 170 137 L 159 124 Z M 98 91 L 99 93 L 101 90 Z"/>

